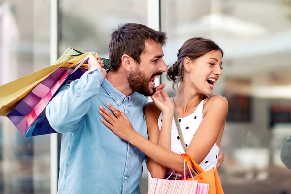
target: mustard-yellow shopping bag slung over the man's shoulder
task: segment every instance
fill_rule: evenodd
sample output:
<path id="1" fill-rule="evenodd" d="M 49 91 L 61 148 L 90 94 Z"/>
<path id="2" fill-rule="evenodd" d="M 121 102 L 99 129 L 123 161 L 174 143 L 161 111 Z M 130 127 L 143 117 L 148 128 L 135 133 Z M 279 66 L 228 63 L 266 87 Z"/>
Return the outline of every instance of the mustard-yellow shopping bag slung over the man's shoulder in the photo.
<path id="1" fill-rule="evenodd" d="M 83 53 L 68 48 L 57 60 L 58 63 L 0 86 L 0 116 L 7 116 L 35 86 L 44 81 L 56 69 L 71 66 L 72 64 L 64 62 L 80 54 Z"/>

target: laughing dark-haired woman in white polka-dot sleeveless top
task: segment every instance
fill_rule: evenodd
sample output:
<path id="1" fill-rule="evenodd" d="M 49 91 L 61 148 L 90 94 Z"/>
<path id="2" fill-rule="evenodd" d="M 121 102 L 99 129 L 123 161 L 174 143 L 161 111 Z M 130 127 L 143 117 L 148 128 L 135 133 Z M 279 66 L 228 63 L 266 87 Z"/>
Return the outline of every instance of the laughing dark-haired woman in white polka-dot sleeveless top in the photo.
<path id="1" fill-rule="evenodd" d="M 180 83 L 173 101 L 185 140 L 186 154 L 204 170 L 209 170 L 216 167 L 228 112 L 226 98 L 219 95 L 208 97 L 222 74 L 223 51 L 211 40 L 191 38 L 179 49 L 177 56 L 178 60 L 170 66 L 167 77 L 173 81 L 173 88 Z M 165 178 L 173 170 L 180 177 L 184 174 L 184 160 L 180 155 L 184 150 L 173 118 L 174 106 L 162 91 L 164 87 L 162 84 L 156 88 L 151 96 L 153 102 L 144 108 L 149 141 L 132 128 L 124 113 L 115 117 L 104 108 L 100 112 L 106 119 L 101 121 L 113 133 L 148 156 L 147 167 L 153 178 Z M 110 104 L 109 108 L 116 111 Z"/>

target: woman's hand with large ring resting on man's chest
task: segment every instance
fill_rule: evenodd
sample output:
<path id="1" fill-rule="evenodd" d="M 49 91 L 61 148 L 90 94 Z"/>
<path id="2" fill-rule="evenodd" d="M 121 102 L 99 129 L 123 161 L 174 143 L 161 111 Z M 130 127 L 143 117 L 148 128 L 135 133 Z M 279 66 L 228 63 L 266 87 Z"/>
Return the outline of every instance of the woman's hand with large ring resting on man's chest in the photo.
<path id="1" fill-rule="evenodd" d="M 111 104 L 109 103 L 106 104 L 113 113 L 116 111 L 116 109 Z M 129 142 L 129 140 L 132 139 L 132 135 L 137 133 L 133 129 L 129 119 L 123 112 L 120 111 L 121 115 L 119 117 L 116 117 L 113 113 L 109 112 L 102 106 L 99 106 L 99 109 L 100 109 L 99 113 L 105 119 L 105 120 L 101 119 L 101 122 L 121 139 L 124 139 L 125 141 Z"/>

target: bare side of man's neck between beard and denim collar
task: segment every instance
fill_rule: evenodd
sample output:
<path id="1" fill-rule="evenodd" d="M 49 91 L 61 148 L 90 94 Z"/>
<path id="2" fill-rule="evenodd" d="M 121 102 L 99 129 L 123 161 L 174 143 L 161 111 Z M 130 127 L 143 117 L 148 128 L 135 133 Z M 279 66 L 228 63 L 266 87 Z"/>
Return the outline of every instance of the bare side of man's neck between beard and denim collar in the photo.
<path id="1" fill-rule="evenodd" d="M 116 88 L 119 92 L 124 94 L 125 96 L 129 96 L 133 93 L 131 88 L 129 87 L 129 83 L 127 81 L 127 75 L 123 72 L 109 71 L 106 76 L 107 80 Z"/>

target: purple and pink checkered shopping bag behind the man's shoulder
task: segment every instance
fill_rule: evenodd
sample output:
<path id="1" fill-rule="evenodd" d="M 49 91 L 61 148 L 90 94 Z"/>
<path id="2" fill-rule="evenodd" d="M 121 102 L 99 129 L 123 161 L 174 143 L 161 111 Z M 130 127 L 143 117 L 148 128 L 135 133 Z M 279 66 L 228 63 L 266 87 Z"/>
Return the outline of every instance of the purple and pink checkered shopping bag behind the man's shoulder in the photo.
<path id="1" fill-rule="evenodd" d="M 79 79 L 87 71 L 78 67 L 72 70 L 55 70 L 7 114 L 24 137 L 56 133 L 49 125 L 45 108 L 62 85 Z"/>

